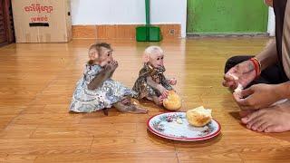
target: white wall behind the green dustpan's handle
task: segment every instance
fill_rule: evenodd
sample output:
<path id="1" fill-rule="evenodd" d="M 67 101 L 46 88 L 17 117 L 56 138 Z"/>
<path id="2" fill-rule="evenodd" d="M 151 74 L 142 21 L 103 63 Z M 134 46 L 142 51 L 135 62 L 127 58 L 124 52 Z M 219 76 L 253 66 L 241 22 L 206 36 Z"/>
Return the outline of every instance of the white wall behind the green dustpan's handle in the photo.
<path id="1" fill-rule="evenodd" d="M 186 36 L 187 0 L 150 0 L 151 24 L 181 24 Z M 71 0 L 73 24 L 145 24 L 145 0 Z"/>

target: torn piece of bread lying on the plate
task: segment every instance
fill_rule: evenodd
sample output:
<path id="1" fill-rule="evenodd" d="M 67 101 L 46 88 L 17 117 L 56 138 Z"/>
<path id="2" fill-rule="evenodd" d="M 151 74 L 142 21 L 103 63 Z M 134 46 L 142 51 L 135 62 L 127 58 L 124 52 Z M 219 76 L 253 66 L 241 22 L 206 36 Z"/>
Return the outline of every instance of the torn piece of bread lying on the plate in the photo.
<path id="1" fill-rule="evenodd" d="M 192 126 L 205 126 L 211 119 L 211 110 L 205 109 L 203 106 L 187 111 L 187 120 Z"/>

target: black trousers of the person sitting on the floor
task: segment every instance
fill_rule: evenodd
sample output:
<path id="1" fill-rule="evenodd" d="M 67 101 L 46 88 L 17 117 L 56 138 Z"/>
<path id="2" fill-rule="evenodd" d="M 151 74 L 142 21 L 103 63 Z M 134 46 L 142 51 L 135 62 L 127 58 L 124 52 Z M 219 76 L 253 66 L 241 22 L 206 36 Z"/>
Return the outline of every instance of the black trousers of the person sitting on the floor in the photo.
<path id="1" fill-rule="evenodd" d="M 247 61 L 251 57 L 253 56 L 234 56 L 229 58 L 225 65 L 225 73 L 238 63 Z M 289 81 L 289 79 L 285 75 L 283 66 L 280 63 L 276 63 L 262 71 L 260 77 L 257 78 L 254 82 L 251 82 L 248 86 L 257 83 L 278 84 L 287 81 Z"/>

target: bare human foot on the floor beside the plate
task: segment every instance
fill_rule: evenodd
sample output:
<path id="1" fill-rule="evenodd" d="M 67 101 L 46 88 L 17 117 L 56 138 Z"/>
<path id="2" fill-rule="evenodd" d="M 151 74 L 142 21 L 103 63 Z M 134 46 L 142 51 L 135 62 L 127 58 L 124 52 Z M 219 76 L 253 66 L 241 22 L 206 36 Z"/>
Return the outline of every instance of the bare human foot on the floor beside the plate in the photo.
<path id="1" fill-rule="evenodd" d="M 290 103 L 256 110 L 242 119 L 247 129 L 259 132 L 284 132 L 290 130 Z"/>

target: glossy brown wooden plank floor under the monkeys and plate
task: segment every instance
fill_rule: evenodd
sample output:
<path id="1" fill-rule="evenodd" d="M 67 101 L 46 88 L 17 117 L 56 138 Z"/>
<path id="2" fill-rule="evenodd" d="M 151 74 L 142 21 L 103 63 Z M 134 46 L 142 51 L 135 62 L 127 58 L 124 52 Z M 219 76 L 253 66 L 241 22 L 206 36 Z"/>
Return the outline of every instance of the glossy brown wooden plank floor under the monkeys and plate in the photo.
<path id="1" fill-rule="evenodd" d="M 213 110 L 221 134 L 200 142 L 160 139 L 146 120 L 162 112 L 150 102 L 146 115 L 110 110 L 70 114 L 75 82 L 82 75 L 88 46 L 19 43 L 0 48 L 0 162 L 286 162 L 290 133 L 265 134 L 237 120 L 237 104 L 221 86 L 224 63 L 235 54 L 261 51 L 266 38 L 204 38 L 158 43 L 166 52 L 167 76 L 176 77 L 182 110 Z M 120 62 L 113 78 L 132 86 L 141 53 L 150 43 L 106 41 Z M 155 43 L 151 43 L 155 44 Z M 130 74 L 130 75 L 129 75 Z"/>

